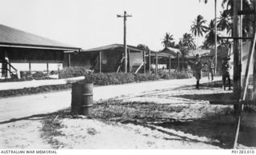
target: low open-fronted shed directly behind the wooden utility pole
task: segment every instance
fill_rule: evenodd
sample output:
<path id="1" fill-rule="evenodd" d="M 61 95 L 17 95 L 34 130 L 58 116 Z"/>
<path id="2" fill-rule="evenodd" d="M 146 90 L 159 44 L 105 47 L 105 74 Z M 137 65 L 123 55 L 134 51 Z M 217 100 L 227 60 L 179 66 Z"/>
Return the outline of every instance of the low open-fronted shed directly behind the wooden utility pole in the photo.
<path id="1" fill-rule="evenodd" d="M 89 50 L 81 50 L 78 54 L 66 52 L 65 64 L 67 66 L 83 66 L 94 72 L 113 73 L 124 71 L 125 54 L 122 44 L 100 46 Z M 127 46 L 127 70 L 135 72 L 142 69 L 143 50 L 136 46 Z"/>

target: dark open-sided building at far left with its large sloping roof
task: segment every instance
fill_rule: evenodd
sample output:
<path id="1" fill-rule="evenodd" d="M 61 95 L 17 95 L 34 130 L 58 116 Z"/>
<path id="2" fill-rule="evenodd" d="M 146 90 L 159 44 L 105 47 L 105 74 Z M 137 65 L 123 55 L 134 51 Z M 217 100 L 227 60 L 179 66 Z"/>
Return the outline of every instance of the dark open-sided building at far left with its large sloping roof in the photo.
<path id="1" fill-rule="evenodd" d="M 42 38 L 22 30 L 0 25 L 0 62 L 1 74 L 4 77 L 17 74 L 19 66 L 13 63 L 46 64 L 63 63 L 64 51 L 78 51 L 80 48 Z"/>

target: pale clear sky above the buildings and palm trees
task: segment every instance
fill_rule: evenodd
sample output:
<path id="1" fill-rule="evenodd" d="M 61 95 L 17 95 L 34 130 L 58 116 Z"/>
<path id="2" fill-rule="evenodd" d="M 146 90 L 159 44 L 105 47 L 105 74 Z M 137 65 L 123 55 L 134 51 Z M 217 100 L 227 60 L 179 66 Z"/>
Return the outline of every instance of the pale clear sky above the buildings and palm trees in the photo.
<path id="1" fill-rule="evenodd" d="M 217 0 L 218 14 L 221 2 Z M 190 33 L 198 14 L 208 25 L 214 0 L 0 0 L 0 24 L 86 50 L 123 43 L 123 19 L 117 14 L 124 10 L 132 15 L 126 21 L 127 44 L 162 50 L 166 32 L 178 42 Z M 203 39 L 197 40 L 200 44 Z"/>

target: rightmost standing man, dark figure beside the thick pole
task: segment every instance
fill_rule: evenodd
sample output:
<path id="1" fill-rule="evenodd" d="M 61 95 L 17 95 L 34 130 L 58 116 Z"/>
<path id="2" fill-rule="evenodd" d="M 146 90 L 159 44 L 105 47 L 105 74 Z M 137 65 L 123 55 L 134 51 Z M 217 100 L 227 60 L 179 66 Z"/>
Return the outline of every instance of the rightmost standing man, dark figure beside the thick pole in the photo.
<path id="1" fill-rule="evenodd" d="M 230 70 L 230 58 L 226 57 L 222 62 L 222 81 L 224 90 L 226 90 L 226 79 L 228 80 L 229 90 L 231 89 Z"/>

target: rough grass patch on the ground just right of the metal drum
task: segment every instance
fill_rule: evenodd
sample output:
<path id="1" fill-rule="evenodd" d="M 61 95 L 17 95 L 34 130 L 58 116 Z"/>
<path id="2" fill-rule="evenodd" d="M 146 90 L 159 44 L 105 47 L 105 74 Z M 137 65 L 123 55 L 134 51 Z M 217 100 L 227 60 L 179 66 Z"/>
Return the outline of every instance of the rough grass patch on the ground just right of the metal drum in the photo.
<path id="1" fill-rule="evenodd" d="M 168 119 L 168 113 L 179 113 L 185 106 L 171 106 L 169 104 L 154 104 L 150 102 L 121 103 L 111 101 L 100 105 L 94 105 L 91 117 L 100 120 L 140 120 L 158 121 Z"/>

